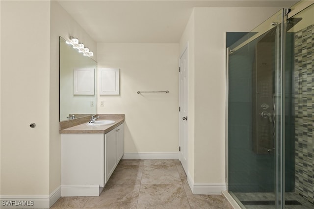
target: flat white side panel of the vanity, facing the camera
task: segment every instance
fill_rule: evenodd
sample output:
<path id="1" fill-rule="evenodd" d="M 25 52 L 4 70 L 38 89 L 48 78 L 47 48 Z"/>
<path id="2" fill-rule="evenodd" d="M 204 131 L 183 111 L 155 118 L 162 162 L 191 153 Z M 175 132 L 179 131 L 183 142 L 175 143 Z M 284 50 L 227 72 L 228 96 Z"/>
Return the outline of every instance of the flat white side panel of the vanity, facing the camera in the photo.
<path id="1" fill-rule="evenodd" d="M 104 133 L 61 134 L 61 196 L 99 196 L 104 156 Z"/>

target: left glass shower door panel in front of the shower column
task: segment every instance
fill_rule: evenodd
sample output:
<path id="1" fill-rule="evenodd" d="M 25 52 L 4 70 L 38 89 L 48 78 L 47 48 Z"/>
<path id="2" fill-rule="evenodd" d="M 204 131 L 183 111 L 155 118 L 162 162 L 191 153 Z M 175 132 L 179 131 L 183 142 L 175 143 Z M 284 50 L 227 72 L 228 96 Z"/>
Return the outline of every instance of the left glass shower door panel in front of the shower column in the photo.
<path id="1" fill-rule="evenodd" d="M 228 191 L 243 208 L 282 205 L 284 14 L 229 47 Z"/>

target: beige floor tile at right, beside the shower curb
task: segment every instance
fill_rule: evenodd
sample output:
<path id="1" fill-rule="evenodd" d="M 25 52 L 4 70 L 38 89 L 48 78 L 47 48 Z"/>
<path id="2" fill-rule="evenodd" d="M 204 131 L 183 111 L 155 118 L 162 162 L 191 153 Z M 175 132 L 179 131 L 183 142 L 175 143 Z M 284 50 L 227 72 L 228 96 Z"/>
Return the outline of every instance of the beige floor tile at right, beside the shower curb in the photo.
<path id="1" fill-rule="evenodd" d="M 233 209 L 222 195 L 193 195 L 188 185 L 183 186 L 191 209 Z"/>

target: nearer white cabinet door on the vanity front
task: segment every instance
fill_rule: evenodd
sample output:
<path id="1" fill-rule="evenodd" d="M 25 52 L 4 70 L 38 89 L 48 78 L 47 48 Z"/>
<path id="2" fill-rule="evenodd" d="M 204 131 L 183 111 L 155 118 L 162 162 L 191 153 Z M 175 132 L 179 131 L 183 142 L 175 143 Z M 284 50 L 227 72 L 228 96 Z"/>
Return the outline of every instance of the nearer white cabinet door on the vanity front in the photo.
<path id="1" fill-rule="evenodd" d="M 117 167 L 117 132 L 116 129 L 105 134 L 105 183 L 108 182 Z"/>

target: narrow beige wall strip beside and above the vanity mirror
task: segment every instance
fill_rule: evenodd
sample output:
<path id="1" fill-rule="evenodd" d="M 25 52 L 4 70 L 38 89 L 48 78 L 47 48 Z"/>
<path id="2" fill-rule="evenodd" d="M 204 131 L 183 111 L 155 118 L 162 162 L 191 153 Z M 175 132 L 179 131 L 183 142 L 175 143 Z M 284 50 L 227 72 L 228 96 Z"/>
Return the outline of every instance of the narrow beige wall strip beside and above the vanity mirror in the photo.
<path id="1" fill-rule="evenodd" d="M 51 1 L 50 19 L 50 189 L 52 193 L 60 185 L 60 134 L 59 134 L 59 36 L 77 37 L 97 57 L 96 42 L 56 1 Z"/>

